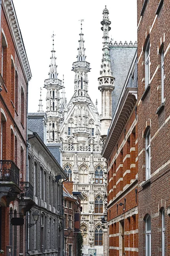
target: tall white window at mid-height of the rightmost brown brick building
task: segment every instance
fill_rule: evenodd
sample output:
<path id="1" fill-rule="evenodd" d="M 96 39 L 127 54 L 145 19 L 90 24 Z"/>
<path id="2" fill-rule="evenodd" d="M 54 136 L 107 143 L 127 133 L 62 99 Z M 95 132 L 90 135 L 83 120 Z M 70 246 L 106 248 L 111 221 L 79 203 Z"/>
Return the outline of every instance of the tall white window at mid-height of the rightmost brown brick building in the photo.
<path id="1" fill-rule="evenodd" d="M 149 143 L 148 143 L 149 140 Z M 147 145 L 148 144 L 148 145 Z M 146 134 L 146 180 L 150 179 L 150 129 Z"/>

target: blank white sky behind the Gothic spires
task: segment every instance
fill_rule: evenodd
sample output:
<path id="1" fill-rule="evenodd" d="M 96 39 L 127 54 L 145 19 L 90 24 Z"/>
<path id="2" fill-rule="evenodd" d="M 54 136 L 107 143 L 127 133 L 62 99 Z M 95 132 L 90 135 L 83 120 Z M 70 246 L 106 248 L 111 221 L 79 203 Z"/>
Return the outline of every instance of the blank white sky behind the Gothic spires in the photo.
<path id="1" fill-rule="evenodd" d="M 32 79 L 29 82 L 29 112 L 37 112 L 40 87 L 48 78 L 52 50 L 51 35 L 55 36 L 58 79 L 63 79 L 67 102 L 74 93 L 72 63 L 76 61 L 80 33 L 80 19 L 84 19 L 83 33 L 86 61 L 91 65 L 89 96 L 93 103 L 98 99 L 101 110 L 101 93 L 98 77 L 101 70 L 102 36 L 101 20 L 107 5 L 111 30 L 109 38 L 114 41 L 137 40 L 137 0 L 13 0 L 18 23 L 23 36 Z M 126 61 L 126 60 L 125 60 Z M 114 74 L 113 74 L 114 76 Z M 46 111 L 46 89 L 43 88 L 43 111 Z"/>

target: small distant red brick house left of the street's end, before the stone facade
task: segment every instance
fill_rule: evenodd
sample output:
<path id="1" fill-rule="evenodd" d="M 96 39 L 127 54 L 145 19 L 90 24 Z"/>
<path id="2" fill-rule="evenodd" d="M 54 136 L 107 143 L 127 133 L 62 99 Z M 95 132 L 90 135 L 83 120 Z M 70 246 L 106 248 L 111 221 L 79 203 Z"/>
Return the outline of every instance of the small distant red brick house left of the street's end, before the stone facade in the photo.
<path id="1" fill-rule="evenodd" d="M 78 233 L 80 232 L 81 192 L 73 192 L 73 182 L 63 185 L 64 206 L 64 256 L 78 255 Z M 75 222 L 78 221 L 78 225 Z"/>

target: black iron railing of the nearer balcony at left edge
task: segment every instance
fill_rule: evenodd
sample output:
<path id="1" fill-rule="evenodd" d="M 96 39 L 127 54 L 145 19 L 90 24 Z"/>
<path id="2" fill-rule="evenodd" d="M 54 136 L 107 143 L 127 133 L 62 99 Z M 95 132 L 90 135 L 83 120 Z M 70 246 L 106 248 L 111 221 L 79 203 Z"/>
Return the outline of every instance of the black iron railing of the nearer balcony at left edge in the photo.
<path id="1" fill-rule="evenodd" d="M 0 160 L 0 181 L 12 181 L 19 186 L 20 170 L 11 160 Z"/>

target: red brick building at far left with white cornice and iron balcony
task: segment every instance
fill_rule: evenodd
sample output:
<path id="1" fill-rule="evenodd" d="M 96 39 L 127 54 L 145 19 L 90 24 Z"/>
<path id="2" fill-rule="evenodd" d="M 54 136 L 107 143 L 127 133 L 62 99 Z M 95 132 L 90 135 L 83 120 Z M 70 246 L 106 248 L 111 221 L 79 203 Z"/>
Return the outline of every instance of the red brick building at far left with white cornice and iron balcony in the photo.
<path id="1" fill-rule="evenodd" d="M 25 253 L 25 214 L 17 197 L 26 185 L 27 86 L 31 79 L 12 0 L 0 1 L 0 249 Z M 22 182 L 22 183 L 20 183 Z M 10 247 L 8 247 L 10 246 Z"/>

